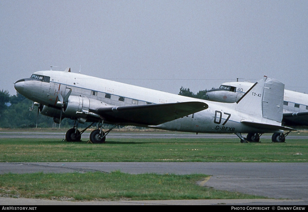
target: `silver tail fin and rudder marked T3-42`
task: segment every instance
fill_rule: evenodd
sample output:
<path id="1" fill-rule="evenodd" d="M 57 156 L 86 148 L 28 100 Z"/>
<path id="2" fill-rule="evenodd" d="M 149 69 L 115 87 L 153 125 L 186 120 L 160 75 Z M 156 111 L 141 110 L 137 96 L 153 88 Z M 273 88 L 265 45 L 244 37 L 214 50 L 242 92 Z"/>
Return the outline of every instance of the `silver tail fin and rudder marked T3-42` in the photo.
<path id="1" fill-rule="evenodd" d="M 264 76 L 236 102 L 236 108 L 254 117 L 281 122 L 284 89 L 282 82 Z"/>

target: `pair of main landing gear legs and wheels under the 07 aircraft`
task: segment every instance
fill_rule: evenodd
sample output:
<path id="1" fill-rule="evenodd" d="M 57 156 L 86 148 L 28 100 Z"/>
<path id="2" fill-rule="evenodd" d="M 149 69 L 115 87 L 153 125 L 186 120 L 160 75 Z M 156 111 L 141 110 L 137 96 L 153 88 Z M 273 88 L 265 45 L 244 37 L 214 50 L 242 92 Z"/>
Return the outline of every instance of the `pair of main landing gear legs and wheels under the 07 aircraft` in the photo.
<path id="1" fill-rule="evenodd" d="M 74 120 L 74 126 L 73 128 L 67 130 L 65 134 L 65 140 L 68 142 L 76 142 L 81 140 L 81 134 L 84 133 L 90 126 L 92 126 L 95 122 L 91 123 L 89 126 L 87 126 L 84 130 L 79 131 L 78 130 L 78 121 Z M 90 141 L 92 143 L 105 143 L 106 142 L 106 135 L 113 130 L 118 124 L 112 126 L 110 130 L 103 132 L 103 121 L 99 123 L 98 129 L 93 130 L 90 134 Z"/>

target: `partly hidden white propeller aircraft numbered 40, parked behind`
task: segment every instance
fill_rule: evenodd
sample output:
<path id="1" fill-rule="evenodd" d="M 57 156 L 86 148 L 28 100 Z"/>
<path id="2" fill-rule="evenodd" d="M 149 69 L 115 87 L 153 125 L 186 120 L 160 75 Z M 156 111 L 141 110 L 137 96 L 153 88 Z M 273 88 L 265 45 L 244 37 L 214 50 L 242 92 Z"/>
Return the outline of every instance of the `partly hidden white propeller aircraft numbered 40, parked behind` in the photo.
<path id="1" fill-rule="evenodd" d="M 253 85 L 251 82 L 225 82 L 218 89 L 209 90 L 207 100 L 215 102 L 236 102 Z M 308 94 L 284 90 L 282 124 L 287 126 L 308 126 Z M 250 138 L 253 135 L 247 136 Z"/>

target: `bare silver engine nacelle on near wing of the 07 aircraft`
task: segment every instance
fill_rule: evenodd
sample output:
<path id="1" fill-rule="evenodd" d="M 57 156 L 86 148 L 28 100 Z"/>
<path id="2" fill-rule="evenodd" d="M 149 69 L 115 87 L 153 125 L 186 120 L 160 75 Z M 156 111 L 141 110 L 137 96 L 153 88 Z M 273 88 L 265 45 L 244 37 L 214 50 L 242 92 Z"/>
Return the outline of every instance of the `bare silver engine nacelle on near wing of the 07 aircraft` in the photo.
<path id="1" fill-rule="evenodd" d="M 74 118 L 87 118 L 89 110 L 106 107 L 107 105 L 96 99 L 84 96 L 70 96 L 63 107 L 65 116 Z"/>

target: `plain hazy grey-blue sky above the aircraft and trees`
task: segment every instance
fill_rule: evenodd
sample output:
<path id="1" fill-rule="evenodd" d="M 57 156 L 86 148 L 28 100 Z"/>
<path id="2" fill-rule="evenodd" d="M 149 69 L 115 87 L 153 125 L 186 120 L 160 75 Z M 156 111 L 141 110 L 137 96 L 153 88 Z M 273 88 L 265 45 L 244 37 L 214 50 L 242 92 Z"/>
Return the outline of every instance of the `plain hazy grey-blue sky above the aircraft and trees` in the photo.
<path id="1" fill-rule="evenodd" d="M 64 70 L 177 94 L 267 75 L 308 93 L 308 1 L 0 1 L 0 90 Z"/>

